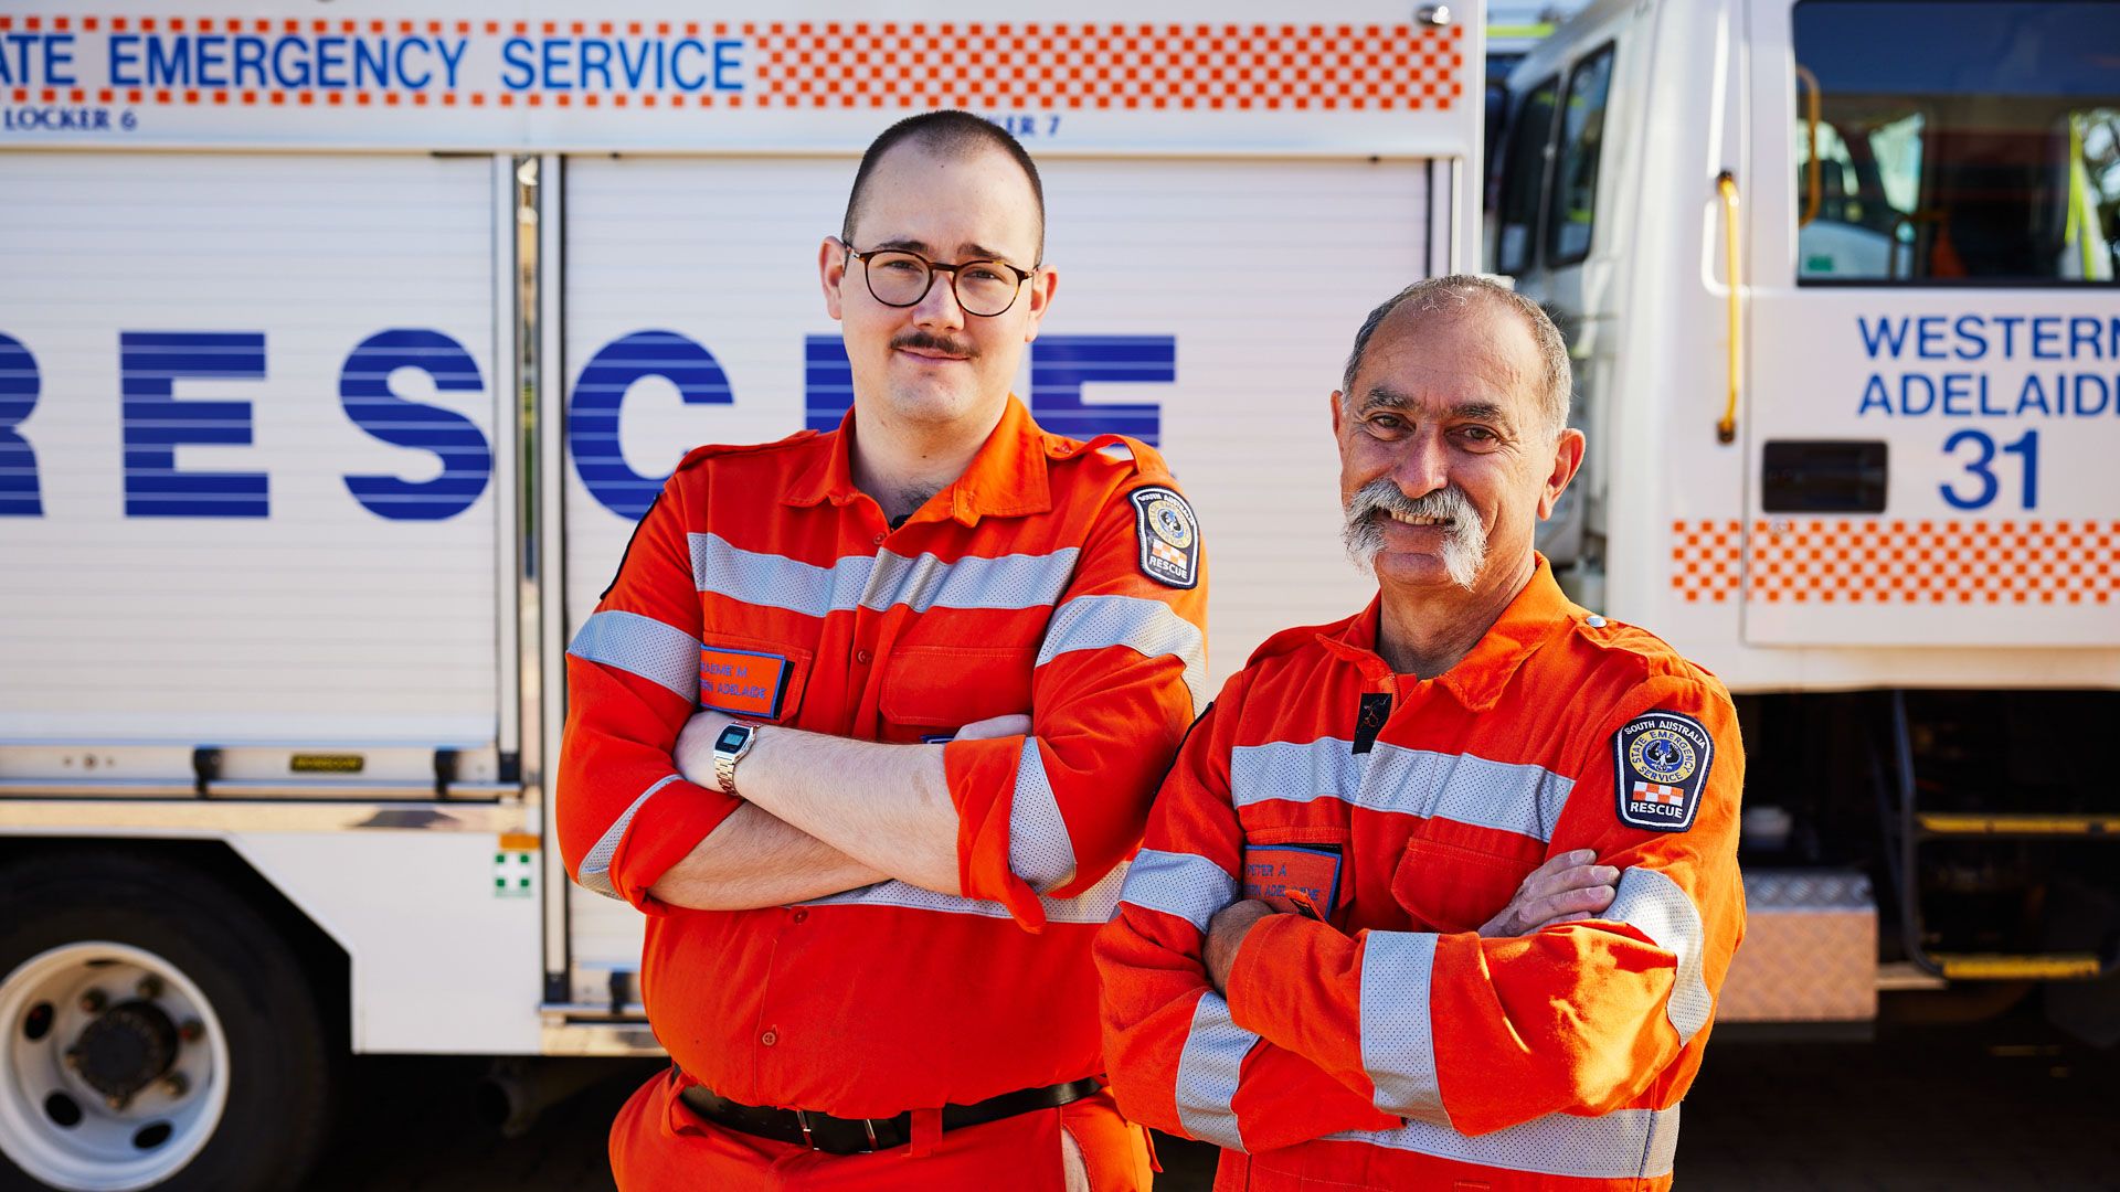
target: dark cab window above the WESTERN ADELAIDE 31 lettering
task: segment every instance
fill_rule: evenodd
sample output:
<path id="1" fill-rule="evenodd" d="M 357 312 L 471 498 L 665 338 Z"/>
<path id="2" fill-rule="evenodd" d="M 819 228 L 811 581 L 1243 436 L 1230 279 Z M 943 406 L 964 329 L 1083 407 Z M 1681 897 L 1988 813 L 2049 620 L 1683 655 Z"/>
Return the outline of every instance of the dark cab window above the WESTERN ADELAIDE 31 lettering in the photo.
<path id="1" fill-rule="evenodd" d="M 2120 4 L 1802 0 L 1794 21 L 1798 284 L 2112 284 Z"/>

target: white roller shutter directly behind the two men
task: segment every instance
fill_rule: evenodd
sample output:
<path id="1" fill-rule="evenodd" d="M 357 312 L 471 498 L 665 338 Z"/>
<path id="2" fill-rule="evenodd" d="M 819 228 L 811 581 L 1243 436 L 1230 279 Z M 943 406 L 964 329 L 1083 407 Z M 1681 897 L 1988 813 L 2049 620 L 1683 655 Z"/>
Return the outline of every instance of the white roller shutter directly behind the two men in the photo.
<path id="1" fill-rule="evenodd" d="M 1041 172 L 1045 257 L 1060 269 L 1041 344 L 1172 341 L 1174 380 L 1094 384 L 1083 401 L 1160 409 L 1162 452 L 1204 526 L 1219 685 L 1266 634 L 1342 617 L 1374 592 L 1340 551 L 1327 395 L 1361 316 L 1427 269 L 1429 168 L 1054 159 Z M 668 331 L 714 356 L 731 399 L 687 405 L 668 380 L 640 380 L 617 428 L 628 471 L 661 477 L 691 445 L 803 426 L 803 341 L 837 335 L 816 250 L 840 227 L 852 174 L 852 159 L 566 163 L 568 392 L 608 344 Z M 1028 375 L 1015 388 L 1028 395 Z M 568 632 L 630 528 L 570 467 Z M 604 997 L 602 969 L 638 959 L 638 916 L 570 895 L 577 997 Z"/>

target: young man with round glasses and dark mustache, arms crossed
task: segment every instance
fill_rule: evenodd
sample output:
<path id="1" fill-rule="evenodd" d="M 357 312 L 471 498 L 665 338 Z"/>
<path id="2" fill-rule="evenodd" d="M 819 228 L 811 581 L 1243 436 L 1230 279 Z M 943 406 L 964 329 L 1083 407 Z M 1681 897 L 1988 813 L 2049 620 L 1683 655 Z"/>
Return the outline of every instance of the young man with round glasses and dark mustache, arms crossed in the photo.
<path id="1" fill-rule="evenodd" d="M 568 870 L 649 914 L 676 1067 L 638 1188 L 1147 1188 L 1090 937 L 1200 711 L 1204 562 L 1162 460 L 1011 397 L 1058 278 L 1030 157 L 869 146 L 825 305 L 835 433 L 685 458 L 568 658 Z"/>

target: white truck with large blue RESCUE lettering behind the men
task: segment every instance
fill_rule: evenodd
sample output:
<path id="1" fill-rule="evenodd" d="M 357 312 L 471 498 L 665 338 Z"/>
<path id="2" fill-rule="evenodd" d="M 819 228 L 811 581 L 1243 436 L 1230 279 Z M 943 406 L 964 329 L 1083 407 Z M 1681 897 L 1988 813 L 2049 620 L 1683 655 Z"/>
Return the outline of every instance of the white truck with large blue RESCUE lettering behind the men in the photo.
<path id="1" fill-rule="evenodd" d="M 1325 395 L 1478 261 L 1480 15 L 0 0 L 0 1188 L 269 1188 L 348 1052 L 653 1052 L 562 649 L 695 443 L 848 405 L 861 148 L 1039 157 L 1018 382 L 1158 443 L 1217 681 L 1359 607 Z"/>

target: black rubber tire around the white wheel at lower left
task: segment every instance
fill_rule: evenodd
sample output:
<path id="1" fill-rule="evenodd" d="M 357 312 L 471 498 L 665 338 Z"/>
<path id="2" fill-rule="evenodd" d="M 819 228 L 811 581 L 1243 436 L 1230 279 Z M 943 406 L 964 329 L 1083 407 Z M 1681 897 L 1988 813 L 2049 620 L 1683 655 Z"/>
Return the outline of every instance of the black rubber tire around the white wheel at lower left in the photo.
<path id="1" fill-rule="evenodd" d="M 216 878 L 170 857 L 83 851 L 0 870 L 0 978 L 64 944 L 146 948 L 199 986 L 229 1048 L 229 1099 L 167 1192 L 301 1188 L 324 1139 L 333 1056 L 288 942 Z M 15 1024 L 4 1024 L 15 1029 Z M 45 1190 L 0 1154 L 0 1190 Z"/>

